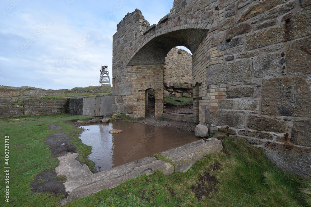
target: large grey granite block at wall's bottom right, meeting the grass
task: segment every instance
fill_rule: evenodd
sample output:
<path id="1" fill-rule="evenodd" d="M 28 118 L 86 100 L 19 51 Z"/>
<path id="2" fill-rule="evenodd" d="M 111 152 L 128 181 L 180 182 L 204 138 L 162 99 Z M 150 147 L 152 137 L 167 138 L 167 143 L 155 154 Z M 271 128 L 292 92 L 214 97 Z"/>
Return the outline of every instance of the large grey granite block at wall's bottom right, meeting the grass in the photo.
<path id="1" fill-rule="evenodd" d="M 267 157 L 283 171 L 306 177 L 311 172 L 311 149 L 267 142 Z"/>

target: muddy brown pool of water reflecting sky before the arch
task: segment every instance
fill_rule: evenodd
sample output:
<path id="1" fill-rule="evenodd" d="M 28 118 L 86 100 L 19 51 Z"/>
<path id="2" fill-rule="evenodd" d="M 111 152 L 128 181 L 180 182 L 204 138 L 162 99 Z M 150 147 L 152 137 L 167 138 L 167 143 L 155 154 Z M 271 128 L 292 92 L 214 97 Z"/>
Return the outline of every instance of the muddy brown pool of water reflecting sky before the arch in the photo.
<path id="1" fill-rule="evenodd" d="M 80 139 L 92 146 L 89 159 L 100 171 L 198 140 L 193 132 L 176 132 L 171 128 L 133 122 L 85 124 L 82 128 L 90 129 L 84 131 Z M 112 129 L 121 129 L 123 132 L 109 134 Z"/>

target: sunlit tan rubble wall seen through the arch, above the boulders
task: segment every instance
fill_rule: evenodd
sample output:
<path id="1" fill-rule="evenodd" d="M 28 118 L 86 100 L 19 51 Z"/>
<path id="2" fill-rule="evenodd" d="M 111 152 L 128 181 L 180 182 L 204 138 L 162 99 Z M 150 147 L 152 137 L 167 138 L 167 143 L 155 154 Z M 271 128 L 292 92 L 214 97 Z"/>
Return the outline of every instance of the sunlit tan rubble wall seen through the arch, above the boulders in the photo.
<path id="1" fill-rule="evenodd" d="M 192 83 L 192 55 L 174 47 L 164 62 L 165 83 Z"/>

